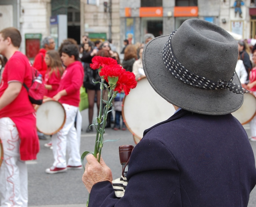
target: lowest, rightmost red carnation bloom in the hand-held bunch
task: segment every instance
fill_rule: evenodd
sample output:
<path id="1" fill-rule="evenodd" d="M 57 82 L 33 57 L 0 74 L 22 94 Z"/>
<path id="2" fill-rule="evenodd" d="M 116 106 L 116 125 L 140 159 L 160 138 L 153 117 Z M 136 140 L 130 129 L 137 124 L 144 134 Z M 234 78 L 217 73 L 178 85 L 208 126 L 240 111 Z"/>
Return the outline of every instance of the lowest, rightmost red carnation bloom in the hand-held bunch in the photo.
<path id="1" fill-rule="evenodd" d="M 135 88 L 137 86 L 137 81 L 135 80 L 135 74 L 129 71 L 125 71 L 118 77 L 118 81 L 116 83 L 115 91 L 119 93 L 124 90 L 125 95 L 128 95 L 131 88 Z"/>

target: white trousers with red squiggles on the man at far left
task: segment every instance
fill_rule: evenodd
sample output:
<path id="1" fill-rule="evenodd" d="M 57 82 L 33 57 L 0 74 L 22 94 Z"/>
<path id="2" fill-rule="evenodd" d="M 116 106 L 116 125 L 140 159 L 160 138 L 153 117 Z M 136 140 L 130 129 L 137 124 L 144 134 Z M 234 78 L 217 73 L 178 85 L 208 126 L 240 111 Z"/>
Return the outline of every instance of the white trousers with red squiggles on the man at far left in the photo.
<path id="1" fill-rule="evenodd" d="M 4 159 L 0 167 L 0 196 L 2 207 L 28 206 L 28 170 L 20 160 L 20 139 L 15 123 L 8 118 L 0 119 L 0 138 Z"/>

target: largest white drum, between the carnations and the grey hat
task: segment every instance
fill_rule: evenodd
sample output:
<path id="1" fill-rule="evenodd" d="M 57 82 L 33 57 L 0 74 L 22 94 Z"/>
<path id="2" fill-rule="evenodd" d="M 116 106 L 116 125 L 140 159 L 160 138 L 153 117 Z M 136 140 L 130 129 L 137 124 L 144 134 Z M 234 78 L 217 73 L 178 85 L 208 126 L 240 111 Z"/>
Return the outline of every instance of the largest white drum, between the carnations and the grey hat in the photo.
<path id="1" fill-rule="evenodd" d="M 123 119 L 136 144 L 144 130 L 167 120 L 174 112 L 172 104 L 155 92 L 146 77 L 123 99 Z"/>

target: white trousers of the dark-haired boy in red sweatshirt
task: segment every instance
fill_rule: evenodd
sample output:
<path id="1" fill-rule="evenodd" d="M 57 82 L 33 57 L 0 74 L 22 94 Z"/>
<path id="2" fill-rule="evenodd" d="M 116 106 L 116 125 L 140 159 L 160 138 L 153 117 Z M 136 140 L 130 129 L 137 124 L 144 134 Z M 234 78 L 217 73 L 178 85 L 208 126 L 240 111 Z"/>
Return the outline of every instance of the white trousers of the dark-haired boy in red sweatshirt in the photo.
<path id="1" fill-rule="evenodd" d="M 68 153 L 68 165 L 80 166 L 80 134 L 78 138 L 75 129 L 75 117 L 78 113 L 78 107 L 68 104 L 62 104 L 66 112 L 66 121 L 64 127 L 56 134 L 52 135 L 52 152 L 54 156 L 53 167 L 67 167 L 66 152 Z M 80 114 L 81 115 L 81 114 Z M 81 123 L 79 123 L 81 125 Z M 77 123 L 77 125 L 79 125 Z M 81 127 L 80 127 L 81 130 Z"/>

